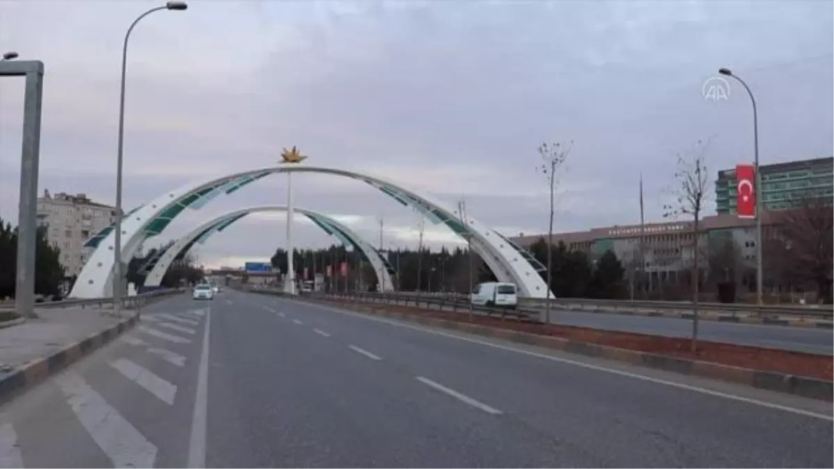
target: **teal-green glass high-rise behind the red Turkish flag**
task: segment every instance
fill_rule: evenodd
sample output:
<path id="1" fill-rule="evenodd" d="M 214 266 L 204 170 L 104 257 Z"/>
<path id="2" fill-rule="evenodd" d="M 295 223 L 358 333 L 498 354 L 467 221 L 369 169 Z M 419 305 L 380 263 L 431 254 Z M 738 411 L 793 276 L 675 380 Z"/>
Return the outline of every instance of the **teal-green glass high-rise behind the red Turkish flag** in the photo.
<path id="1" fill-rule="evenodd" d="M 761 171 L 761 199 L 764 210 L 791 208 L 791 202 L 805 194 L 834 196 L 834 157 L 763 164 Z M 738 181 L 736 169 L 718 172 L 716 179 L 716 212 L 736 214 Z"/>

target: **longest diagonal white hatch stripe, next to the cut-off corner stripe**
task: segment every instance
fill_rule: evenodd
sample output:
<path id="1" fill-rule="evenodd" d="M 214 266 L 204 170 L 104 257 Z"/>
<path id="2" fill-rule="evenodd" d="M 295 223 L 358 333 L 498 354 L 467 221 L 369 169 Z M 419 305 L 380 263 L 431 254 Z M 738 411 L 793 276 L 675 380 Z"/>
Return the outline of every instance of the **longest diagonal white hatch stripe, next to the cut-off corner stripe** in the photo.
<path id="1" fill-rule="evenodd" d="M 93 441 L 119 469 L 153 469 L 157 448 L 72 371 L 56 377 L 67 403 Z"/>

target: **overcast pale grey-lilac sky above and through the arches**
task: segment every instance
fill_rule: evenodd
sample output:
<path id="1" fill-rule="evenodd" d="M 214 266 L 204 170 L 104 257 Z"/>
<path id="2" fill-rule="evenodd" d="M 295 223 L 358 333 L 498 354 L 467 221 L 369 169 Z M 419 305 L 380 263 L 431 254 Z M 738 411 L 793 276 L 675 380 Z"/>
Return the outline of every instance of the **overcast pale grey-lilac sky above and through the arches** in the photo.
<path id="1" fill-rule="evenodd" d="M 0 2 L 0 49 L 46 66 L 40 191 L 112 204 L 123 34 L 158 3 Z M 134 30 L 125 121 L 126 209 L 183 184 L 274 164 L 380 174 L 456 204 L 505 235 L 544 232 L 544 141 L 574 142 L 560 178 L 559 231 L 659 220 L 675 154 L 711 139 L 708 165 L 834 155 L 834 3 L 280 2 L 192 0 Z M 23 80 L 0 81 L 0 217 L 17 218 Z M 188 210 L 159 240 L 252 204 L 284 204 L 286 177 Z M 366 184 L 294 179 L 297 204 L 385 245 L 415 245 L 417 216 Z M 713 204 L 711 204 L 711 209 Z M 305 247 L 333 242 L 298 223 Z M 252 216 L 199 250 L 206 265 L 264 260 L 282 216 Z M 441 227 L 430 245 L 454 243 Z M 158 240 L 158 241 L 159 241 Z M 149 242 L 153 245 L 155 242 Z"/>

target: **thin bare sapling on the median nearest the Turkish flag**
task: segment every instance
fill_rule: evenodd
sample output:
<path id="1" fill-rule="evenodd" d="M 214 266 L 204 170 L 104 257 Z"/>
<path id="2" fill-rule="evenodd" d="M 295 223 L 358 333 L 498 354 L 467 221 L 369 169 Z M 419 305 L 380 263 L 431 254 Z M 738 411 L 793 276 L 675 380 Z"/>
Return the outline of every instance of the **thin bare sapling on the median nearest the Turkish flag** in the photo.
<path id="1" fill-rule="evenodd" d="M 698 244 L 701 235 L 701 213 L 709 198 L 709 170 L 706 168 L 706 149 L 708 142 L 698 142 L 680 154 L 677 154 L 677 169 L 674 173 L 676 187 L 671 190 L 675 201 L 663 206 L 665 218 L 679 216 L 692 217 L 692 346 L 698 350 L 698 300 L 701 285 L 701 250 Z"/>

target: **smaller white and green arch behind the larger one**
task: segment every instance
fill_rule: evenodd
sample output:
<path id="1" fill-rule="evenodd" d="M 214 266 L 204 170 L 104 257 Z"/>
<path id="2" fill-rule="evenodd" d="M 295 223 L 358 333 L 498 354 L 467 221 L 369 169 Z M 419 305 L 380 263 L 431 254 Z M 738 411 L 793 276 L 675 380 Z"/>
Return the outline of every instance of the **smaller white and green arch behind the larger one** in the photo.
<path id="1" fill-rule="evenodd" d="M 246 215 L 259 212 L 284 212 L 286 210 L 286 205 L 260 205 L 247 207 L 245 209 L 237 209 L 226 214 L 219 215 L 214 219 L 210 219 L 203 224 L 200 224 L 197 228 L 191 230 L 187 235 L 184 235 L 174 242 L 173 245 L 168 247 L 168 249 L 166 249 L 163 254 L 154 261 L 153 267 L 145 277 L 144 286 L 158 287 L 162 283 L 165 272 L 168 271 L 168 267 L 171 266 L 174 260 L 177 260 L 181 256 L 188 253 L 188 250 L 191 250 L 193 245 L 203 244 L 212 235 L 223 231 L 228 228 L 229 225 L 234 224 L 234 222 L 244 218 Z M 311 209 L 296 207 L 293 210 L 299 214 L 304 214 L 304 216 L 310 219 L 310 221 L 318 225 L 319 228 L 324 229 L 325 233 L 336 237 L 345 246 L 353 246 L 354 250 L 362 254 L 364 258 L 363 260 L 367 260 L 370 265 L 373 266 L 374 273 L 376 274 L 380 287 L 384 288 L 385 291 L 394 290 L 394 282 L 391 280 L 391 274 L 393 274 L 394 271 L 391 268 L 391 265 L 384 260 L 384 257 L 379 254 L 379 251 L 376 250 L 374 246 L 370 245 L 352 229 L 349 229 L 333 217 L 329 217 L 328 215 Z"/>

